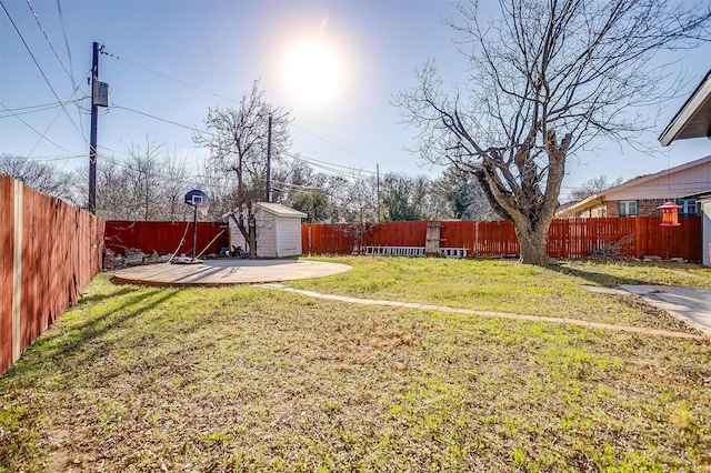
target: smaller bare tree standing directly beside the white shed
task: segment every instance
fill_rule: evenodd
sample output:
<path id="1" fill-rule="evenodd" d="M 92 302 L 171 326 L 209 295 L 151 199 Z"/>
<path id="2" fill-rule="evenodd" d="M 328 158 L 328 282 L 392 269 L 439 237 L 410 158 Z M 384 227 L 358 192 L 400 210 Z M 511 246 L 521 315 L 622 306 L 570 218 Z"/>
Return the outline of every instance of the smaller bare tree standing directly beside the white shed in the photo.
<path id="1" fill-rule="evenodd" d="M 249 94 L 242 95 L 238 108 L 208 110 L 207 129 L 196 131 L 192 137 L 197 145 L 210 151 L 210 165 L 237 177 L 236 208 L 230 218 L 248 242 L 250 258 L 257 256 L 253 203 L 264 197 L 270 117 L 271 157 L 278 162 L 291 145 L 291 120 L 288 111 L 266 101 L 259 80 L 254 81 Z"/>

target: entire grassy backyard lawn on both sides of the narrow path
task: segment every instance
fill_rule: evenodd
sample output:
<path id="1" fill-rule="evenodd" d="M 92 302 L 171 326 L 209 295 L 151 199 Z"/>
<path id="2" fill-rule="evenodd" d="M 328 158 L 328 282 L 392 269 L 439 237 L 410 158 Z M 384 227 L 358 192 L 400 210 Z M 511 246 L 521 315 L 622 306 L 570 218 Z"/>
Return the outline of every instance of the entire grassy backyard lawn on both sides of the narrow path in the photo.
<path id="1" fill-rule="evenodd" d="M 697 333 L 690 264 L 339 258 L 329 294 Z M 711 343 L 101 274 L 0 379 L 2 471 L 711 470 Z"/>

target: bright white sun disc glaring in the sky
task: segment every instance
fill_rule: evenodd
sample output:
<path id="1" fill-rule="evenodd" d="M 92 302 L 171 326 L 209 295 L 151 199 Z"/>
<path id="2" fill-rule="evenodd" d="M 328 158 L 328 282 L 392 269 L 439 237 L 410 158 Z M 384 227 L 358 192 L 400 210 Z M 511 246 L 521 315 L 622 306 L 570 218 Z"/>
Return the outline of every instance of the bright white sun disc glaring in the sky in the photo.
<path id="1" fill-rule="evenodd" d="M 326 105 L 336 101 L 342 91 L 342 60 L 336 49 L 321 39 L 303 41 L 288 50 L 282 80 L 296 102 Z"/>

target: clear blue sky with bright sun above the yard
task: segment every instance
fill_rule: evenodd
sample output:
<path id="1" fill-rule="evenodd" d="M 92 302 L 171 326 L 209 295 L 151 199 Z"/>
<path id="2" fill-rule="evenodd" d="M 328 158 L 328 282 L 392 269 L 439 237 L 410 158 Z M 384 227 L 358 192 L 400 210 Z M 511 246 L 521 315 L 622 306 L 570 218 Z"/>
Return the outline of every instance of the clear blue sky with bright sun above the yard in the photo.
<path id="1" fill-rule="evenodd" d="M 209 108 L 236 107 L 254 80 L 266 99 L 291 111 L 292 153 L 314 165 L 369 174 L 440 174 L 405 150 L 417 130 L 392 97 L 415 85 L 415 68 L 435 58 L 463 83 L 467 64 L 441 21 L 449 1 L 1 0 L 0 152 L 72 170 L 88 163 L 92 42 L 102 44 L 99 79 L 110 85 L 100 110 L 101 155 L 124 159 L 147 140 L 190 167 L 208 152 L 192 142 Z M 480 12 L 497 10 L 480 1 Z M 9 16 L 9 18 L 8 18 Z M 17 28 L 17 31 L 16 31 Z M 610 181 L 658 172 L 711 154 L 711 142 L 657 139 L 711 69 L 711 44 L 678 53 L 671 72 L 682 93 L 649 109 L 659 149 L 648 155 L 599 143 L 570 157 L 561 201 L 601 174 Z M 298 68 L 294 64 L 310 64 Z M 307 71 L 308 73 L 304 73 Z M 63 108 L 59 102 L 68 102 Z M 316 168 L 321 170 L 320 168 Z"/>

